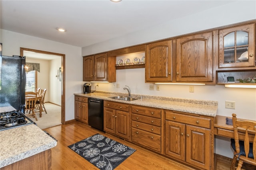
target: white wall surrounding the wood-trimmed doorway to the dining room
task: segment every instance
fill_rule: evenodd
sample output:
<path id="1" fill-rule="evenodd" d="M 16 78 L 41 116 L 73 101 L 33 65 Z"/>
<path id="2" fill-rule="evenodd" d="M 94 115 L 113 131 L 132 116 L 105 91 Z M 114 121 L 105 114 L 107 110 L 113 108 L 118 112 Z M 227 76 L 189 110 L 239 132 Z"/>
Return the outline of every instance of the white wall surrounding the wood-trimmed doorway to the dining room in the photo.
<path id="1" fill-rule="evenodd" d="M 47 39 L 32 37 L 1 29 L 2 55 L 20 55 L 20 47 L 49 51 L 66 55 L 66 121 L 74 119 L 74 93 L 81 92 L 82 54 L 81 47 L 75 47 Z M 57 70 L 53 70 L 56 74 Z M 49 89 L 50 91 L 50 89 Z"/>

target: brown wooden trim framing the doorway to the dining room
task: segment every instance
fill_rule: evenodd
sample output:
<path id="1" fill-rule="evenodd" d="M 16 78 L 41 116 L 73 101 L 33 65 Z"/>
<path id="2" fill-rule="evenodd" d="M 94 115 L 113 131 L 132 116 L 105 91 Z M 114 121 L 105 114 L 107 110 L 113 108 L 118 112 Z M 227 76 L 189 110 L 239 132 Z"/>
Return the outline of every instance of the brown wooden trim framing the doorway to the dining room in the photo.
<path id="1" fill-rule="evenodd" d="M 31 51 L 39 54 L 56 55 L 61 57 L 61 123 L 65 124 L 65 55 L 60 53 L 52 53 L 48 51 L 41 51 L 35 49 L 28 49 L 20 47 L 20 56 L 24 56 L 25 51 Z"/>

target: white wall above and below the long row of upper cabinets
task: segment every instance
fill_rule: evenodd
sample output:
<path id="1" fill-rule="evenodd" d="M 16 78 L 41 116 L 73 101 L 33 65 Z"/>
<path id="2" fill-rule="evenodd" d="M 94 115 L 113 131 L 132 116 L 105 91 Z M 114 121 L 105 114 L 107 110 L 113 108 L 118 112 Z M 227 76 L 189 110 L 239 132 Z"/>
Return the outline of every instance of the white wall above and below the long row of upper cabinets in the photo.
<path id="1" fill-rule="evenodd" d="M 168 37 L 174 37 L 204 29 L 211 29 L 238 23 L 242 21 L 256 19 L 256 1 L 236 1 L 194 14 L 179 18 L 177 20 L 166 21 L 161 25 L 156 25 L 146 30 L 130 33 L 123 37 L 104 41 L 102 43 L 90 45 L 82 48 L 82 56 L 112 49 L 119 49 Z M 182 12 L 182 9 L 181 9 Z M 132 93 L 148 94 L 155 96 L 170 96 L 177 98 L 191 98 L 199 100 L 218 101 L 218 115 L 231 116 L 236 113 L 238 117 L 256 120 L 256 90 L 245 88 L 225 88 L 221 85 L 216 86 L 194 86 L 194 93 L 188 91 L 188 85 L 160 85 L 160 91 L 149 90 L 149 83 L 145 83 L 144 69 L 116 70 L 117 81 L 120 88 L 113 88 L 113 83 L 99 83 L 97 90 L 111 92 L 127 92 L 123 90 L 125 85 L 132 89 Z M 94 86 L 92 84 L 92 89 Z M 156 86 L 155 86 L 156 89 Z M 236 109 L 226 109 L 225 101 L 235 101 Z M 223 137 L 215 138 L 215 153 L 233 157 L 230 148 L 230 139 Z"/>

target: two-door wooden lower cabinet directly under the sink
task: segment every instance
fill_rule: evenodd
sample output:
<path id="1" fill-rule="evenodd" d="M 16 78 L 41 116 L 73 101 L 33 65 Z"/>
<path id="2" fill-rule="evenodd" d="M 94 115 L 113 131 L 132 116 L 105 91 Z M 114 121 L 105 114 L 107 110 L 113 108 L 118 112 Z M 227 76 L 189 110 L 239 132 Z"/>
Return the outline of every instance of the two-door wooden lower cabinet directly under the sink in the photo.
<path id="1" fill-rule="evenodd" d="M 127 104 L 104 101 L 104 131 L 129 140 L 130 113 L 127 110 Z"/>

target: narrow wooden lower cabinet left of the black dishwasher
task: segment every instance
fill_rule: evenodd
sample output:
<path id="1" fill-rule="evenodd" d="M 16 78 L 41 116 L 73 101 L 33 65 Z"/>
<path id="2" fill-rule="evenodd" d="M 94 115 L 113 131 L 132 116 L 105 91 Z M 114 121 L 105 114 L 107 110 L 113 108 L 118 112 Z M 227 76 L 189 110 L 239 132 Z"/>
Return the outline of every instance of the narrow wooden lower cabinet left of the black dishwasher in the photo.
<path id="1" fill-rule="evenodd" d="M 75 96 L 75 119 L 88 124 L 88 98 Z"/>

